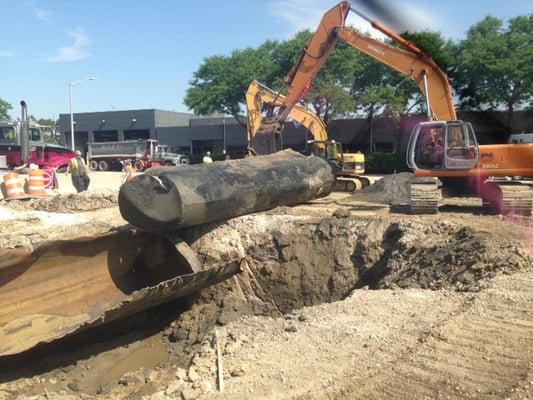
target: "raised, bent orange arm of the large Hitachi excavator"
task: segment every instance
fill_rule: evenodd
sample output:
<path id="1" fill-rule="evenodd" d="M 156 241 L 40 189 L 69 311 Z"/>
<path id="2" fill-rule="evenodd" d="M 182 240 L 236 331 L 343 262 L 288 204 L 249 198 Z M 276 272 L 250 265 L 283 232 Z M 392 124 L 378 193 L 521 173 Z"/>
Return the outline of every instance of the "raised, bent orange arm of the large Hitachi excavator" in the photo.
<path id="1" fill-rule="evenodd" d="M 344 26 L 350 3 L 343 1 L 329 10 L 322 18 L 315 34 L 304 48 L 299 61 L 291 69 L 285 82 L 289 84 L 285 109 L 280 115 L 281 123 L 288 117 L 291 108 L 311 88 L 313 79 L 324 66 L 339 41 L 373 57 L 412 79 L 425 95 L 430 117 L 435 120 L 457 119 L 452 90 L 448 78 L 439 66 L 422 50 L 403 39 L 379 21 L 364 14 L 358 15 L 371 23 L 372 27 L 384 33 L 402 48 L 391 46 L 379 40 L 361 35 Z"/>

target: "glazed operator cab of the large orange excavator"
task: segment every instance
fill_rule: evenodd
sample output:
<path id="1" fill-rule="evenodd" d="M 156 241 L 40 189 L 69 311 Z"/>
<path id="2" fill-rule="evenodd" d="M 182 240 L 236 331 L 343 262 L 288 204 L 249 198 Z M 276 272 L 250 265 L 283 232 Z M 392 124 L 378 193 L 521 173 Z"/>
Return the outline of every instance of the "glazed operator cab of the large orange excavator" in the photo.
<path id="1" fill-rule="evenodd" d="M 472 125 L 462 121 L 418 124 L 407 147 L 407 165 L 413 170 L 468 170 L 479 159 Z"/>

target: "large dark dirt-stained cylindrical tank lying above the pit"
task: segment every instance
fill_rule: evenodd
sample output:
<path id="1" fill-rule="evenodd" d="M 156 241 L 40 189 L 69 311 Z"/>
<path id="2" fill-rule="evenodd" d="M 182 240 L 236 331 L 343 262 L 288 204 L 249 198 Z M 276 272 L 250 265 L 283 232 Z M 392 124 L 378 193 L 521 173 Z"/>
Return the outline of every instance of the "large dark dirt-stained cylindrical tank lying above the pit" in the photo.
<path id="1" fill-rule="evenodd" d="M 148 232 L 166 232 L 295 205 L 328 195 L 329 164 L 292 150 L 180 167 L 151 168 L 120 188 L 120 212 Z"/>

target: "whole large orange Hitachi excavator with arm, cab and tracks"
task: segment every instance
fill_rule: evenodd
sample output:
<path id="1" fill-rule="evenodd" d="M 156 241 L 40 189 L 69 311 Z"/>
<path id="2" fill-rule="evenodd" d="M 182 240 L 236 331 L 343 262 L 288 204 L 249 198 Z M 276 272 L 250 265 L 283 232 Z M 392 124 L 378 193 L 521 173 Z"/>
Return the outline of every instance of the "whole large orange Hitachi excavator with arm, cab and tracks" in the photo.
<path id="1" fill-rule="evenodd" d="M 397 46 L 347 28 L 345 22 L 350 11 Z M 279 135 L 291 110 L 309 91 L 339 41 L 409 77 L 426 98 L 428 122 L 414 128 L 407 149 L 407 163 L 418 177 L 411 183 L 412 213 L 436 213 L 441 195 L 467 195 L 481 197 L 492 213 L 531 215 L 533 183 L 512 177 L 533 177 L 533 144 L 479 146 L 472 125 L 457 120 L 452 88 L 439 66 L 413 43 L 353 9 L 348 1 L 324 14 L 286 76 L 289 89 L 279 113 L 268 121 L 275 128 L 270 132 Z"/>

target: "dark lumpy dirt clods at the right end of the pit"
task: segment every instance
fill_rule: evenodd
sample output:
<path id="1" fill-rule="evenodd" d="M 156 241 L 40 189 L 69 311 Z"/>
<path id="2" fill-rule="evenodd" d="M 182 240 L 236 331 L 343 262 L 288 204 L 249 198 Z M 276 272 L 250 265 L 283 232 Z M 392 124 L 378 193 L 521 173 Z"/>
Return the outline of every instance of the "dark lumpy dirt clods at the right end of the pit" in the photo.
<path id="1" fill-rule="evenodd" d="M 510 274 L 532 265 L 533 258 L 522 244 L 496 239 L 445 222 L 393 224 L 384 233 L 381 256 L 359 286 L 475 292 L 490 286 L 499 272 Z"/>

